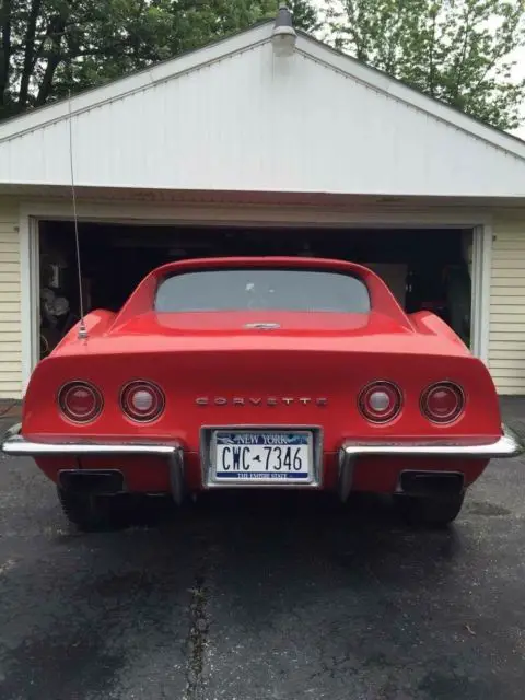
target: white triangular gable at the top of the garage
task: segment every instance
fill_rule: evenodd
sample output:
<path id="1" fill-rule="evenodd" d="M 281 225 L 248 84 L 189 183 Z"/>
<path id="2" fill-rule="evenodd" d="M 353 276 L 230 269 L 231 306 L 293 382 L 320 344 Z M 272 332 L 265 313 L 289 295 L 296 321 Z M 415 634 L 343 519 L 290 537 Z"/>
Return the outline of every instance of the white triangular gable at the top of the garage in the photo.
<path id="1" fill-rule="evenodd" d="M 72 100 L 78 186 L 515 197 L 525 143 L 271 24 Z M 69 185 L 67 103 L 0 125 L 0 184 Z"/>

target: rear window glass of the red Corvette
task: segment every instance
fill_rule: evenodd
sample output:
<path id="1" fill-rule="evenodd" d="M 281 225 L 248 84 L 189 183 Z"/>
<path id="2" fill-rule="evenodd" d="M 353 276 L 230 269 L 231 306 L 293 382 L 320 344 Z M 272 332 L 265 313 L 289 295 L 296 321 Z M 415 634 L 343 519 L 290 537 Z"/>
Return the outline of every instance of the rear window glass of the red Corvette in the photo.
<path id="1" fill-rule="evenodd" d="M 275 310 L 366 314 L 370 294 L 357 277 L 324 270 L 221 269 L 162 280 L 158 312 Z"/>

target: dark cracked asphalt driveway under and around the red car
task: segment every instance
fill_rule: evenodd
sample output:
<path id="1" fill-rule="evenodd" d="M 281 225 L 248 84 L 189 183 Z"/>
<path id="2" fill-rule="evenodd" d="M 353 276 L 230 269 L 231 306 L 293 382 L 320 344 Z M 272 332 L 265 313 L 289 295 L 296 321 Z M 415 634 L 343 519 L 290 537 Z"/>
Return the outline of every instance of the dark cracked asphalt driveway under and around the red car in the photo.
<path id="1" fill-rule="evenodd" d="M 447 532 L 246 494 L 84 535 L 1 455 L 0 698 L 522 700 L 524 466 L 492 463 Z"/>

